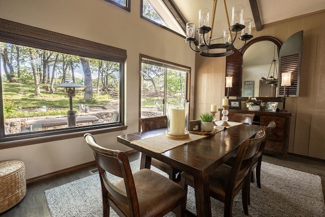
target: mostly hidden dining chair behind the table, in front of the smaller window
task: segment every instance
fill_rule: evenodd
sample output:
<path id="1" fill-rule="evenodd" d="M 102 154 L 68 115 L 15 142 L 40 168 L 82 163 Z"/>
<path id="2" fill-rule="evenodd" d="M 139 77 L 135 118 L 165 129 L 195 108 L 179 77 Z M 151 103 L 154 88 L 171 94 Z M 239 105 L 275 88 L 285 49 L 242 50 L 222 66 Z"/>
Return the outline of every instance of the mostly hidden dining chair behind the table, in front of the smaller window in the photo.
<path id="1" fill-rule="evenodd" d="M 142 132 L 148 130 L 154 130 L 159 128 L 167 128 L 167 116 L 157 116 L 157 117 L 148 117 L 148 118 L 139 118 Z M 180 180 L 180 170 L 161 162 L 157 159 L 151 158 L 151 165 L 166 172 L 169 175 L 169 178 L 173 181 Z"/>

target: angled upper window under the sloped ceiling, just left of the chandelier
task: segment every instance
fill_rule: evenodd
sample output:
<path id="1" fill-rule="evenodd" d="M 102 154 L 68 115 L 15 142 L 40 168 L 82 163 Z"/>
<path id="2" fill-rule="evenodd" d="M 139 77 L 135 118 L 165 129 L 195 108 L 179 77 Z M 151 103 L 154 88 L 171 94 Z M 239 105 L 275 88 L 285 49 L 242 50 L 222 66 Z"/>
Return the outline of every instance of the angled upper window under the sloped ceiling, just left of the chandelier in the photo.
<path id="1" fill-rule="evenodd" d="M 186 22 L 171 0 L 141 0 L 141 17 L 185 37 Z"/>

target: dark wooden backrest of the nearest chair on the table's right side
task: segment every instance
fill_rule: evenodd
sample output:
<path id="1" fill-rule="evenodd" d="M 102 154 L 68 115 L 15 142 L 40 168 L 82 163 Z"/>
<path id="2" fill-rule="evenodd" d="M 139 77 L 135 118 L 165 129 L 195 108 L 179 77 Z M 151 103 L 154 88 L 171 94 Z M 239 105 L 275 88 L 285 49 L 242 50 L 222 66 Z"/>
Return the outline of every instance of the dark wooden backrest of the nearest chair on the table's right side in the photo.
<path id="1" fill-rule="evenodd" d="M 265 136 L 266 131 L 265 127 L 263 127 L 258 130 L 255 138 L 242 141 L 237 151 L 230 178 L 228 180 L 226 194 L 236 195 L 241 190 L 245 179 L 250 175 L 256 149 L 265 139 Z"/>

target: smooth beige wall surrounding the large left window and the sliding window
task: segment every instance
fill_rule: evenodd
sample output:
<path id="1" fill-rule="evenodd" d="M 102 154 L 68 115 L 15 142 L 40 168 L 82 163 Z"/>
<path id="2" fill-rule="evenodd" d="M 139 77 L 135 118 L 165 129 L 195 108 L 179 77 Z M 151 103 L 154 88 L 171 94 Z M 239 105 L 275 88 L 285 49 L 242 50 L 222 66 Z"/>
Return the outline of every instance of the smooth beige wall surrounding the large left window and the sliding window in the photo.
<path id="1" fill-rule="evenodd" d="M 103 146 L 129 150 L 117 142 L 116 136 L 138 131 L 140 53 L 191 67 L 190 96 L 193 96 L 194 53 L 182 37 L 141 19 L 140 0 L 131 1 L 131 12 L 104 0 L 1 0 L 0 18 L 127 50 L 125 124 L 128 128 L 94 135 Z M 193 102 L 192 97 L 190 101 Z M 0 161 L 12 159 L 25 163 L 27 179 L 94 160 L 83 137 L 0 149 Z"/>

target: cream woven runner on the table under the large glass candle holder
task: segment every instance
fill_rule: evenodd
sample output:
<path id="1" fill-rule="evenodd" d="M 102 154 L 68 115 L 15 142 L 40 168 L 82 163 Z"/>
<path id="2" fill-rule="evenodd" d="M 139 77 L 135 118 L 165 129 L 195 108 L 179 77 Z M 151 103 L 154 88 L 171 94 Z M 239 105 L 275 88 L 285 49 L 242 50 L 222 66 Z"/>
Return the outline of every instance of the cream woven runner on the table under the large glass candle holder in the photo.
<path id="1" fill-rule="evenodd" d="M 183 145 L 188 142 L 196 141 L 196 140 L 202 139 L 204 137 L 206 137 L 206 136 L 189 134 L 188 139 L 173 140 L 173 139 L 167 138 L 165 136 L 165 134 L 163 134 L 163 135 L 154 136 L 154 137 L 150 137 L 150 138 L 134 140 L 131 142 L 131 144 L 138 145 L 140 147 L 146 148 L 146 149 L 156 152 L 156 153 L 163 153 L 163 152 L 173 149 L 177 146 Z"/>

